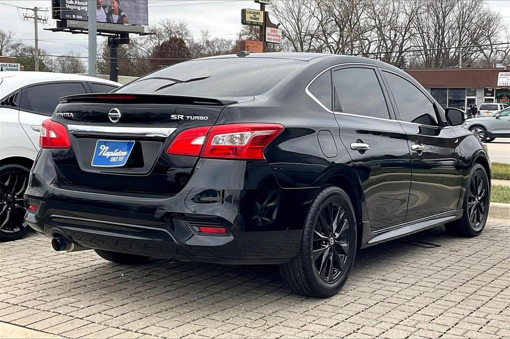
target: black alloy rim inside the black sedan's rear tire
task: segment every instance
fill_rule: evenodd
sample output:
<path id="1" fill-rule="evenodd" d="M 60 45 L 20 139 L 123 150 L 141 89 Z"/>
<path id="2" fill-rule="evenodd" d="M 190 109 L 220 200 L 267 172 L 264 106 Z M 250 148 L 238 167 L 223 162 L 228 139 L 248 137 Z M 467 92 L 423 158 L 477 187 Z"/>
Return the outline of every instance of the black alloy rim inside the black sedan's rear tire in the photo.
<path id="1" fill-rule="evenodd" d="M 312 255 L 315 271 L 326 283 L 338 280 L 349 253 L 349 220 L 337 202 L 322 207 L 314 228 Z"/>

